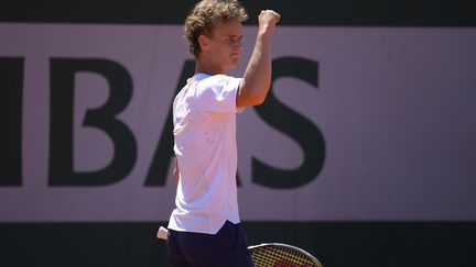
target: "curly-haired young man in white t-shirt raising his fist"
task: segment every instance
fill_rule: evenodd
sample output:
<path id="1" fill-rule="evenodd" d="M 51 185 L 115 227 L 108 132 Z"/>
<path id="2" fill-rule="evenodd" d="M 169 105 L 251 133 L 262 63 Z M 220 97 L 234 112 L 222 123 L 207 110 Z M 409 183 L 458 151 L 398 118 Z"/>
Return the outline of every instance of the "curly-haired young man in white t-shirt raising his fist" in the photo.
<path id="1" fill-rule="evenodd" d="M 239 224 L 235 115 L 264 101 L 271 85 L 271 37 L 280 15 L 261 11 L 244 78 L 234 78 L 225 74 L 238 65 L 246 19 L 237 0 L 203 0 L 185 21 L 196 66 L 173 103 L 178 186 L 167 253 L 174 266 L 253 266 Z"/>

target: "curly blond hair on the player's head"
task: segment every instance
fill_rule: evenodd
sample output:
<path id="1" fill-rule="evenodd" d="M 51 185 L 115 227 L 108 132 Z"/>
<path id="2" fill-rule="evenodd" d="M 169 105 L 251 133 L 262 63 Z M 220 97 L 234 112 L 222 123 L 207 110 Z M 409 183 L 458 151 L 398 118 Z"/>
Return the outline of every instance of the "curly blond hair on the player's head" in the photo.
<path id="1" fill-rule="evenodd" d="M 202 0 L 188 13 L 184 24 L 184 36 L 188 49 L 198 58 L 201 47 L 198 36 L 212 36 L 216 23 L 230 20 L 244 22 L 248 14 L 238 0 Z"/>

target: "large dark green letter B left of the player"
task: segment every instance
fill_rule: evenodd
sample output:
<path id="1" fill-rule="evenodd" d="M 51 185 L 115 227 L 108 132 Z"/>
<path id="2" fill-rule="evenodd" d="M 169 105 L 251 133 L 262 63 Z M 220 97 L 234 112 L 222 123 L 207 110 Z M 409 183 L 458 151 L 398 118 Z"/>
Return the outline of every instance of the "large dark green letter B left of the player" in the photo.
<path id="1" fill-rule="evenodd" d="M 132 79 L 118 63 L 98 58 L 51 59 L 50 186 L 104 186 L 117 182 L 131 171 L 137 159 L 137 144 L 130 129 L 116 118 L 132 97 Z M 74 171 L 73 118 L 74 81 L 79 71 L 95 73 L 109 82 L 108 101 L 88 110 L 84 126 L 109 135 L 115 152 L 111 163 L 96 171 Z"/>

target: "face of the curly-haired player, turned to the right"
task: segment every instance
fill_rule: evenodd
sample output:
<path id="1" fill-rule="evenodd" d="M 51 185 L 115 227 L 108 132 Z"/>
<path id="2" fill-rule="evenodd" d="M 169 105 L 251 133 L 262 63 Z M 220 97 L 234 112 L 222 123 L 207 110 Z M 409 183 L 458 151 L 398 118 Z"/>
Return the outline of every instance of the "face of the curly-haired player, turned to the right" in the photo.
<path id="1" fill-rule="evenodd" d="M 236 67 L 241 54 L 242 26 L 238 20 L 221 22 L 216 25 L 210 38 L 210 52 L 215 64 L 224 71 Z"/>

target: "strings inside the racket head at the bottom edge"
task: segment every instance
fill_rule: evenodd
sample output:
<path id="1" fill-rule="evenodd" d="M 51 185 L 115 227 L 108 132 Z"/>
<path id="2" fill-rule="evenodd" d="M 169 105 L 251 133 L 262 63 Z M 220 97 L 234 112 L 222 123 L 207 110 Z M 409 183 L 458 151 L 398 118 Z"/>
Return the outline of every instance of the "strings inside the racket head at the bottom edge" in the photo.
<path id="1" fill-rule="evenodd" d="M 307 255 L 281 246 L 264 246 L 252 251 L 256 267 L 311 267 L 317 266 Z"/>

